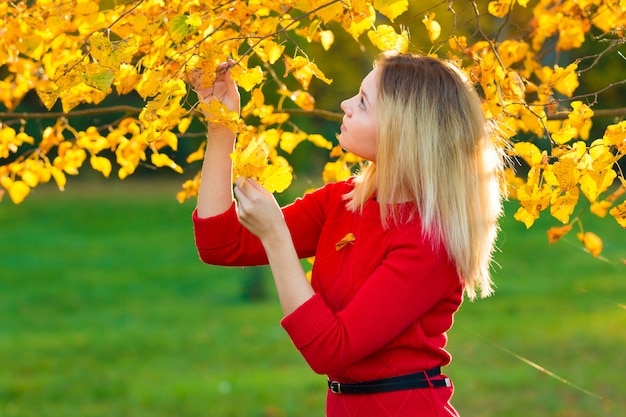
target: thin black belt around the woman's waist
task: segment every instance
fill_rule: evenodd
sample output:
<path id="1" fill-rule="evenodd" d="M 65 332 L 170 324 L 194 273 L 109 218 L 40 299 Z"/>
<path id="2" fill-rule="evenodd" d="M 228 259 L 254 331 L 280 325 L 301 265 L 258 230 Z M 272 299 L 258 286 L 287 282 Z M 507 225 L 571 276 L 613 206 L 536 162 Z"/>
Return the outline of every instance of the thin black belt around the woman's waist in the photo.
<path id="1" fill-rule="evenodd" d="M 374 381 L 344 384 L 328 380 L 328 388 L 333 394 L 373 394 L 377 392 L 400 391 L 415 388 L 450 387 L 449 378 L 430 380 L 441 374 L 441 368 L 436 367 L 427 371 L 392 378 L 376 379 Z"/>

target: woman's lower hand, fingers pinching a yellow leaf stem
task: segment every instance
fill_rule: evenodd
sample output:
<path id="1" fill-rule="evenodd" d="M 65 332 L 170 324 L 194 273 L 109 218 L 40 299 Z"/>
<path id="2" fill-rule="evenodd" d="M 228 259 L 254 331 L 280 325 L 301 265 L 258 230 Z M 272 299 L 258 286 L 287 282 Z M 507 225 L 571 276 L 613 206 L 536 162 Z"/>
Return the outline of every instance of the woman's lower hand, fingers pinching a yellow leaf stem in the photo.
<path id="1" fill-rule="evenodd" d="M 249 178 L 239 178 L 235 184 L 235 196 L 240 223 L 261 239 L 264 245 L 282 236 L 291 238 L 276 199 L 259 183 Z"/>

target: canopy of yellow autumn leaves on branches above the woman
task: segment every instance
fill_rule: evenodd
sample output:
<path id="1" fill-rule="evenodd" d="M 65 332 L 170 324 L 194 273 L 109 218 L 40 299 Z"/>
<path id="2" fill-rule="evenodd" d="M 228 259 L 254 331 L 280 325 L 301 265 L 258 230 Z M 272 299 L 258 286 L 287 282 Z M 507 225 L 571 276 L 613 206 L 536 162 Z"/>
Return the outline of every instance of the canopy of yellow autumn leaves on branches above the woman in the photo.
<path id="1" fill-rule="evenodd" d="M 432 4 L 427 4 L 432 3 Z M 619 56 L 626 33 L 626 0 L 35 0 L 0 3 L 0 198 L 19 204 L 37 185 L 87 163 L 121 179 L 140 164 L 182 172 L 202 158 L 204 144 L 177 151 L 202 120 L 190 79 L 208 87 L 219 62 L 233 59 L 232 76 L 248 95 L 241 117 L 214 108 L 238 132 L 236 175 L 280 192 L 292 181 L 289 154 L 303 141 L 327 149 L 324 181 L 349 176 L 360 163 L 328 138 L 305 132 L 294 113 L 339 120 L 317 109 L 312 82 L 332 80 L 309 56 L 308 43 L 333 53 L 341 32 L 354 48 L 415 49 L 451 59 L 473 80 L 484 112 L 500 127 L 518 172 L 507 171 L 517 220 L 531 227 L 543 211 L 564 226 L 577 224 L 594 256 L 602 241 L 584 231 L 576 207 L 626 228 L 626 114 L 606 108 L 606 94 L 626 84 L 603 79 L 589 91 L 581 77 Z M 419 10 L 417 10 L 419 8 Z M 314 81 L 318 80 L 318 81 Z M 47 112 L 19 112 L 34 92 Z M 110 104 L 111 97 L 116 99 Z M 128 99 L 126 99 L 128 97 Z M 270 99 L 269 97 L 277 97 Z M 119 102 L 137 105 L 120 105 Z M 202 104 L 204 105 L 204 104 Z M 212 105 L 217 106 L 213 103 Z M 605 107 L 605 108 L 602 108 Z M 112 114 L 106 123 L 77 128 L 77 118 Z M 610 117 L 603 133 L 599 118 Z M 33 127 L 29 120 L 39 120 Z M 199 174 L 198 174 L 199 175 Z M 199 176 L 177 198 L 195 196 Z M 607 220 L 608 221 L 608 220 Z"/>

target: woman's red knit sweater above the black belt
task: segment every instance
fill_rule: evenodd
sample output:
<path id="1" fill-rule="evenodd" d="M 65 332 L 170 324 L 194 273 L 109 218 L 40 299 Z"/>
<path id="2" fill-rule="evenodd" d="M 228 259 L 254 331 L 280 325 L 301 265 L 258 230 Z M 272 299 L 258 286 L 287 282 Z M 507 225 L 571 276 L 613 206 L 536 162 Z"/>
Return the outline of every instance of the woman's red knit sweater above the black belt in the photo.
<path id="1" fill-rule="evenodd" d="M 417 216 L 385 230 L 375 199 L 362 214 L 348 211 L 342 196 L 351 189 L 351 181 L 328 184 L 283 208 L 298 255 L 315 256 L 316 292 L 282 320 L 283 327 L 311 368 L 331 380 L 367 381 L 447 365 L 446 331 L 463 293 L 453 262 L 422 236 Z M 194 212 L 193 221 L 204 262 L 267 264 L 234 204 L 208 219 Z M 350 233 L 354 240 L 338 249 Z"/>

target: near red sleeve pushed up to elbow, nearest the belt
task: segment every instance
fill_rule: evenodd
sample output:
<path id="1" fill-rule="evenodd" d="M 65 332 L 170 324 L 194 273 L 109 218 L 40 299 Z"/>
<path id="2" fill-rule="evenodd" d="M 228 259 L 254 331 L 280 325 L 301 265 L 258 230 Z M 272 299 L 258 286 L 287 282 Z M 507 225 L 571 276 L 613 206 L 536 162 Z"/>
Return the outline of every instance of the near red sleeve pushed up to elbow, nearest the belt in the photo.
<path id="1" fill-rule="evenodd" d="M 435 332 L 449 328 L 462 295 L 455 268 L 443 251 L 415 239 L 415 229 L 410 232 L 396 239 L 343 310 L 333 313 L 318 294 L 283 319 L 314 371 L 329 374 L 350 366 L 411 326 L 420 327 L 417 333 L 428 331 L 419 321 L 434 310 L 449 312 L 435 318 L 442 321 L 433 326 Z"/>

